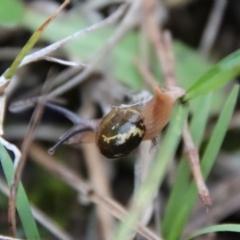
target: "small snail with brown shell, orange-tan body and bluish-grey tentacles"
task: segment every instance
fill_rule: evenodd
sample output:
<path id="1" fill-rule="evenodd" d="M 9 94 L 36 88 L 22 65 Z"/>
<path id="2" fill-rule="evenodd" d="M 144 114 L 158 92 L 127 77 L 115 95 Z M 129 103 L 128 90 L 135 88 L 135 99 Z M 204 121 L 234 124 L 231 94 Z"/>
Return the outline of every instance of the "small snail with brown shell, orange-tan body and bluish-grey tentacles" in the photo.
<path id="1" fill-rule="evenodd" d="M 144 140 L 154 142 L 168 123 L 174 103 L 184 95 L 184 90 L 175 86 L 156 86 L 154 92 L 155 95 L 148 101 L 113 107 L 105 117 L 98 120 L 82 119 L 63 107 L 45 103 L 75 124 L 49 152 L 53 153 L 62 143 L 95 142 L 103 156 L 117 159 L 129 155 Z"/>

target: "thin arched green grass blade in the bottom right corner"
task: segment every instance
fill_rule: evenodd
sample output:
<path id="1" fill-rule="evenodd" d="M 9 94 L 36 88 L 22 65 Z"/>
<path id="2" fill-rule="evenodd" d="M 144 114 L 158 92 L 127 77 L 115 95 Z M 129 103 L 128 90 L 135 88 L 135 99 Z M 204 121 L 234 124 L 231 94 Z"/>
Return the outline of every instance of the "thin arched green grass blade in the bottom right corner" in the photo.
<path id="1" fill-rule="evenodd" d="M 220 224 L 211 227 L 207 227 L 195 232 L 190 237 L 186 238 L 186 240 L 193 239 L 194 237 L 206 234 L 206 233 L 215 233 L 215 232 L 236 232 L 240 233 L 240 225 L 239 224 Z"/>

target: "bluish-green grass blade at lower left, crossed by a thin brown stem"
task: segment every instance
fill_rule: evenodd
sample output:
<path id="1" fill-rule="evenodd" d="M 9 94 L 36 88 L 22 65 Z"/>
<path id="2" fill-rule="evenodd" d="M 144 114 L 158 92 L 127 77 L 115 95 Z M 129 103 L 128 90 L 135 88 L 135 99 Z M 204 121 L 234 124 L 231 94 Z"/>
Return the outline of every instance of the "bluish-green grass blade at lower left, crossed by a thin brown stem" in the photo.
<path id="1" fill-rule="evenodd" d="M 0 161 L 3 167 L 4 175 L 7 179 L 7 183 L 10 186 L 13 179 L 14 167 L 6 149 L 1 144 Z M 19 184 L 17 192 L 16 207 L 27 239 L 40 240 L 37 225 L 33 218 L 26 193 L 21 183 Z"/>

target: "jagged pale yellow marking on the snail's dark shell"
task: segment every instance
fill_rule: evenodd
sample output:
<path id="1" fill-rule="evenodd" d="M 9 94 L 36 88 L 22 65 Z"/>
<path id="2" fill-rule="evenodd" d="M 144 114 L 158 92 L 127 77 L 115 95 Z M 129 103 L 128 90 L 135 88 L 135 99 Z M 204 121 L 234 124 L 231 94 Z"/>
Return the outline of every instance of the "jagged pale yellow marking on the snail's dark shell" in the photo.
<path id="1" fill-rule="evenodd" d="M 144 131 L 136 126 L 131 126 L 130 130 L 127 133 L 117 134 L 112 137 L 106 137 L 105 135 L 102 135 L 102 137 L 104 142 L 109 143 L 111 140 L 118 138 L 120 139 L 119 144 L 123 144 L 131 137 L 131 135 L 136 136 L 137 134 L 139 135 L 139 137 L 142 137 Z"/>

